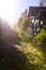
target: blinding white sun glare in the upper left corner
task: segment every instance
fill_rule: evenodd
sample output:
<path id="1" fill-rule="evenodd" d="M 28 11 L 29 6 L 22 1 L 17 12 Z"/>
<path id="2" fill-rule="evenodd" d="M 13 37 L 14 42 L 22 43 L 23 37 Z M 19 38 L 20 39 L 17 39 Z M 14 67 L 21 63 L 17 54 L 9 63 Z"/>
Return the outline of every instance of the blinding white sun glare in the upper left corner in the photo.
<path id="1" fill-rule="evenodd" d="M 14 24 L 14 15 L 17 8 L 14 1 L 16 0 L 0 0 L 0 17 L 9 20 L 10 25 Z"/>

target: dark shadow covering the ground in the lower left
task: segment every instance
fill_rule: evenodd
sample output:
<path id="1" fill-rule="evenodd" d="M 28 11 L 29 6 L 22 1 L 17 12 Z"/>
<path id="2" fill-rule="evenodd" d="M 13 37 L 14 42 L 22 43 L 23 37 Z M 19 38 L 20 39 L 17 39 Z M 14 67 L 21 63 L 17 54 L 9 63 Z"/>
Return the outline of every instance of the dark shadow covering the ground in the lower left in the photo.
<path id="1" fill-rule="evenodd" d="M 13 43 L 0 44 L 0 70 L 34 70 L 33 66 Z"/>

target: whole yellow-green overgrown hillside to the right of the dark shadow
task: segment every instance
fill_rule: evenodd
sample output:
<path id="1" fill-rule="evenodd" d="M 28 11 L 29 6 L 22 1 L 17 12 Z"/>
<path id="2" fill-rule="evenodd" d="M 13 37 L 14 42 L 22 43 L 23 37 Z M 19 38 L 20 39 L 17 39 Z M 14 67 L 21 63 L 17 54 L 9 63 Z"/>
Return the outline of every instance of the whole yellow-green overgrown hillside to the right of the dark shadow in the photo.
<path id="1" fill-rule="evenodd" d="M 16 47 L 21 51 L 30 62 L 30 70 L 46 70 L 46 20 L 37 32 L 31 28 L 33 16 L 28 17 L 21 14 L 15 30 L 20 38 L 20 44 Z M 14 44 L 15 46 L 15 44 Z M 32 67 L 31 67 L 32 66 Z"/>

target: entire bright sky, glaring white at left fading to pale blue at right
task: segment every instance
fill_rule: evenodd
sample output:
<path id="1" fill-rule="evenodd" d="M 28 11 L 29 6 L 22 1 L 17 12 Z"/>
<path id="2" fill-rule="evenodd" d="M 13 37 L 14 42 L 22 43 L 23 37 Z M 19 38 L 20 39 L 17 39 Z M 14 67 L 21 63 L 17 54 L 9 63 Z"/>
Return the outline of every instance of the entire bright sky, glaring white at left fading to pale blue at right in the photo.
<path id="1" fill-rule="evenodd" d="M 0 0 L 0 17 L 9 20 L 10 25 L 14 25 L 28 6 L 39 5 L 40 0 Z"/>

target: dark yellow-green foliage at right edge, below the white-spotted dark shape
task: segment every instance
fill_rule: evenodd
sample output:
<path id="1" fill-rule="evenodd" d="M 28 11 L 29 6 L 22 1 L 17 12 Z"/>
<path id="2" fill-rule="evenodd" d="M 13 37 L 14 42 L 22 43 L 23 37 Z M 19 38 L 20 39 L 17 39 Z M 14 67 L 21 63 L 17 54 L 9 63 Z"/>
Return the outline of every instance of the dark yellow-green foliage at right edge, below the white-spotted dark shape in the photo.
<path id="1" fill-rule="evenodd" d="M 40 48 L 42 48 L 46 53 L 46 23 L 44 24 L 37 36 L 34 37 L 33 43 L 35 43 L 36 46 L 40 46 Z"/>

